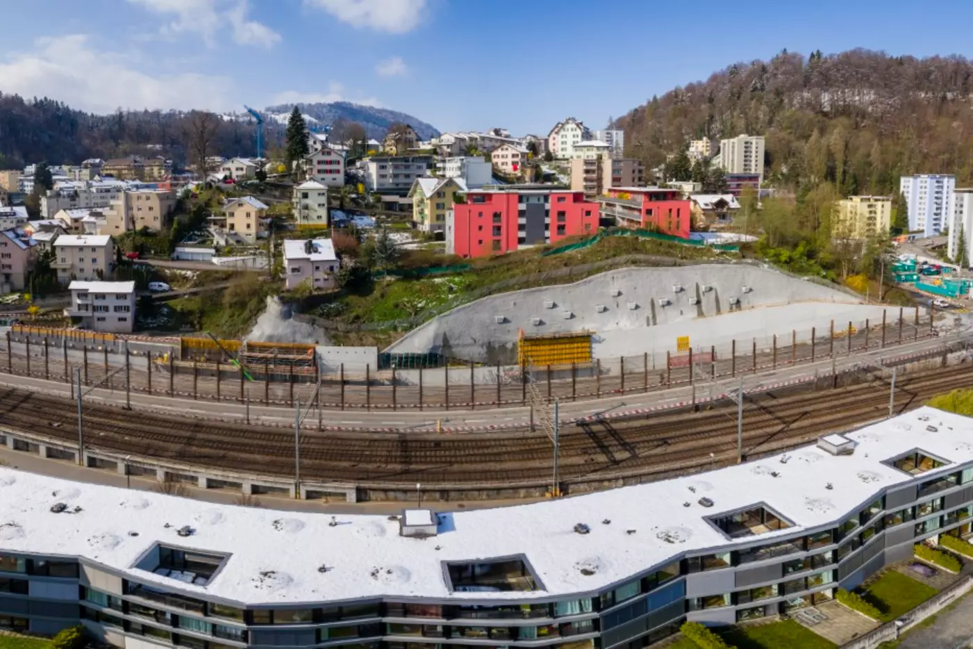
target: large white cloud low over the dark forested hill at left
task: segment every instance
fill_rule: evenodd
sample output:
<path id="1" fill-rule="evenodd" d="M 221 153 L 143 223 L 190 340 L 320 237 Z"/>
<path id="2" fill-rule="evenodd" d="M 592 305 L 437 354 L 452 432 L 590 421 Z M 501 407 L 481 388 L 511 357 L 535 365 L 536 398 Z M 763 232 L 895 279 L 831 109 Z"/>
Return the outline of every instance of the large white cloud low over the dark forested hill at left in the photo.
<path id="1" fill-rule="evenodd" d="M 127 58 L 90 46 L 84 34 L 42 38 L 36 51 L 0 60 L 5 92 L 49 96 L 72 108 L 109 113 L 133 109 L 233 107 L 227 77 L 180 72 L 153 76 L 128 67 Z"/>

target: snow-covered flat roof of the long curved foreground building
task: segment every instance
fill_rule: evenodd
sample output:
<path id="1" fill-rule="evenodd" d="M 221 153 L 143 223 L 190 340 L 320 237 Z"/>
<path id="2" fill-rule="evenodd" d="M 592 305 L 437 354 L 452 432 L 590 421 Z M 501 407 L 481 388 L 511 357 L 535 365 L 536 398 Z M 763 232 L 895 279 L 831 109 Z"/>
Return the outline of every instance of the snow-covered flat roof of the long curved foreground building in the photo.
<path id="1" fill-rule="evenodd" d="M 725 551 L 735 543 L 836 525 L 883 488 L 929 480 L 973 462 L 973 419 L 930 408 L 847 437 L 857 445 L 849 455 L 808 446 L 675 480 L 440 515 L 439 534 L 425 539 L 400 536 L 399 522 L 385 516 L 336 515 L 332 522 L 331 514 L 217 505 L 0 467 L 0 552 L 84 557 L 134 581 L 249 605 L 380 595 L 570 598 L 623 583 L 687 553 Z M 918 477 L 883 463 L 915 449 L 950 463 Z M 702 498 L 712 506 L 703 507 Z M 57 502 L 69 512 L 81 510 L 54 514 Z M 731 542 L 704 519 L 757 504 L 793 526 Z M 590 532 L 576 533 L 577 523 Z M 192 535 L 176 533 L 184 525 L 194 528 Z M 133 567 L 156 543 L 229 559 L 209 584 L 184 584 Z M 445 583 L 444 561 L 515 556 L 529 562 L 544 590 L 454 593 Z"/>

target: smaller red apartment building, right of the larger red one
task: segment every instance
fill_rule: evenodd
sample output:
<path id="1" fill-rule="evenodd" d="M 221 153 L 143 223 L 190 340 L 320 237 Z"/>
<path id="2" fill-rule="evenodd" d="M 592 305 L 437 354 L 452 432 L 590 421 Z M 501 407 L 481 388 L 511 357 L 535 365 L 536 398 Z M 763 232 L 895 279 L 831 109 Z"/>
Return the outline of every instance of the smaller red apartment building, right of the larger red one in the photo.
<path id="1" fill-rule="evenodd" d="M 623 228 L 656 230 L 689 238 L 693 201 L 679 190 L 661 187 L 608 187 L 598 197 L 602 216 L 615 217 Z"/>

